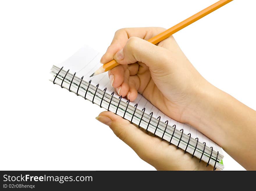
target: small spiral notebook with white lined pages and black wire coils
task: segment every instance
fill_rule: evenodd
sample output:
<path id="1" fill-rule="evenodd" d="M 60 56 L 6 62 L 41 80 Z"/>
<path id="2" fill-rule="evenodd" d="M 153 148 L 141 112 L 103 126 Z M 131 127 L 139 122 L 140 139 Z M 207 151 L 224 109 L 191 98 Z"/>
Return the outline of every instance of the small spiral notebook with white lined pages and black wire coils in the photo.
<path id="1" fill-rule="evenodd" d="M 63 63 L 53 65 L 50 81 L 91 101 L 94 103 L 92 107 L 98 105 L 150 131 L 169 144 L 190 153 L 191 157 L 205 161 L 214 170 L 224 168 L 222 148 L 195 128 L 164 115 L 141 94 L 133 102 L 120 97 L 111 86 L 107 72 L 90 78 L 102 66 L 99 63 L 102 55 L 84 46 Z"/>

